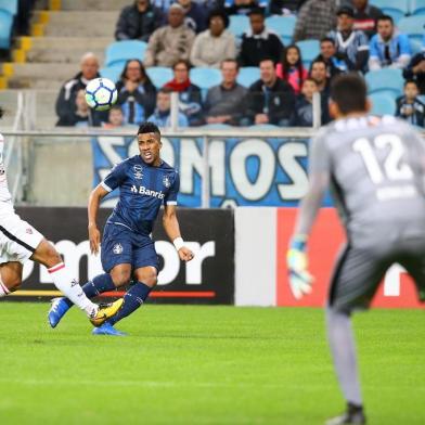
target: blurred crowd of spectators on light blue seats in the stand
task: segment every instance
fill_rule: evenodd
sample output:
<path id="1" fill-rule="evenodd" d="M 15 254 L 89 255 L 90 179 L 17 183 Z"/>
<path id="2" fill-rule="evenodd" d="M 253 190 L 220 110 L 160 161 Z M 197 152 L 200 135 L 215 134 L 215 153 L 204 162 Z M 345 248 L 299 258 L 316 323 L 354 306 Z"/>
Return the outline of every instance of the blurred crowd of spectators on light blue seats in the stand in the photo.
<path id="1" fill-rule="evenodd" d="M 40 2 L 16 3 L 9 44 L 1 44 L 5 62 L 16 40 L 25 44 L 34 31 L 35 15 L 40 20 Z M 105 44 L 103 57 L 80 46 L 80 68 L 55 95 L 56 126 L 112 128 L 150 119 L 167 127 L 177 92 L 179 127 L 311 127 L 314 93 L 322 124 L 329 123 L 332 78 L 357 72 L 366 79 L 374 113 L 424 127 L 425 1 L 127 3 L 116 13 L 115 41 Z M 83 25 L 90 28 L 89 15 Z M 106 113 L 93 113 L 85 102 L 86 85 L 99 76 L 118 89 L 117 104 Z"/>

